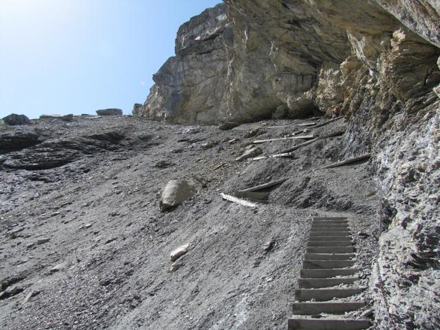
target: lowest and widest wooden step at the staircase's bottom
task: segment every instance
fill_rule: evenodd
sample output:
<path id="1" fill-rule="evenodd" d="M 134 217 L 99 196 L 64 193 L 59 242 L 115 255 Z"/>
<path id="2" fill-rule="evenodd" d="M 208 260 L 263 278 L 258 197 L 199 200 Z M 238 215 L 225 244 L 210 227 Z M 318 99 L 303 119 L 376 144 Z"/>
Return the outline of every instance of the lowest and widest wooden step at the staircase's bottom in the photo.
<path id="1" fill-rule="evenodd" d="M 370 327 L 369 320 L 289 318 L 289 330 L 362 330 Z"/>

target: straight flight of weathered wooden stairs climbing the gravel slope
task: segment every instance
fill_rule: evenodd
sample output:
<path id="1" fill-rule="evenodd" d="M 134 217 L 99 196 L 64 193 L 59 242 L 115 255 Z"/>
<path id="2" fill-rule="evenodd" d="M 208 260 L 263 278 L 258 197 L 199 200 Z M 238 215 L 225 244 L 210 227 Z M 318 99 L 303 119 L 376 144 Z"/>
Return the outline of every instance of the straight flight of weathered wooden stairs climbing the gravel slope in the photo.
<path id="1" fill-rule="evenodd" d="M 297 303 L 292 306 L 295 317 L 289 318 L 288 329 L 368 329 L 371 326 L 369 320 L 340 317 L 366 306 L 364 301 L 350 299 L 366 289 L 355 285 L 359 278 L 355 276 L 358 270 L 354 265 L 355 254 L 347 218 L 315 217 L 298 289 L 295 290 Z"/>

